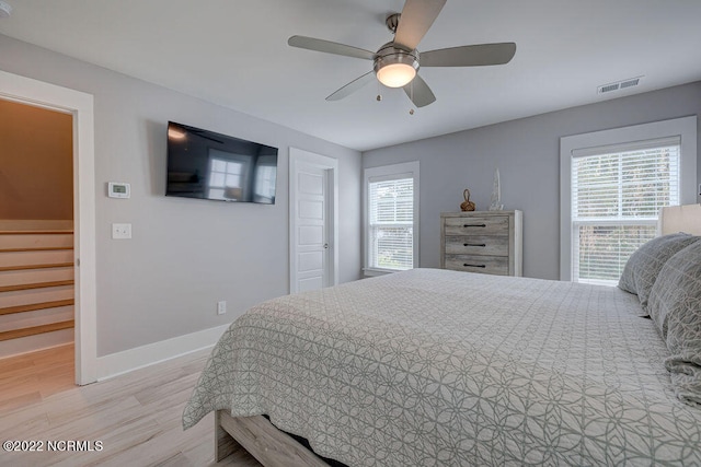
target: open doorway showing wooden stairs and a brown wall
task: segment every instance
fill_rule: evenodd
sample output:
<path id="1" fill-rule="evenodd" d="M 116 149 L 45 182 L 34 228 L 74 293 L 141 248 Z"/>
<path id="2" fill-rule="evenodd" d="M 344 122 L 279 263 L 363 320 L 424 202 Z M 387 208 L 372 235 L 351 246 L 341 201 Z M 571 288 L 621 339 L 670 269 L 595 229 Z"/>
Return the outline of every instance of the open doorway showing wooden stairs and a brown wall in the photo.
<path id="1" fill-rule="evenodd" d="M 72 126 L 0 100 L 0 358 L 73 345 Z"/>

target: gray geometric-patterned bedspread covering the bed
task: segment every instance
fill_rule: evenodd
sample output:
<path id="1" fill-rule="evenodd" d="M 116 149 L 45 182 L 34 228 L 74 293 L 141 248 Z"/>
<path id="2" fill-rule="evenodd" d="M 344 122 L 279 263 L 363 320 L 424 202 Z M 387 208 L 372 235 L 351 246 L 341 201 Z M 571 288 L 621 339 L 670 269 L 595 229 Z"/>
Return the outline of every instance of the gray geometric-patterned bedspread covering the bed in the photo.
<path id="1" fill-rule="evenodd" d="M 267 413 L 350 466 L 701 465 L 637 297 L 414 269 L 264 302 L 183 413 Z"/>

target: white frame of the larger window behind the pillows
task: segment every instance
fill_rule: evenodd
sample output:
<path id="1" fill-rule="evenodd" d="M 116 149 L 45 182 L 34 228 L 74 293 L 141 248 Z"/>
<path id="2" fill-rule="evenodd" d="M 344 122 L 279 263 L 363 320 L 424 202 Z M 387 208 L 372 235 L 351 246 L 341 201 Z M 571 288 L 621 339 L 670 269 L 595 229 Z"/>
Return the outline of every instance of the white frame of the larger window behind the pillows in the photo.
<path id="1" fill-rule="evenodd" d="M 560 279 L 572 280 L 572 160 L 596 148 L 635 144 L 646 140 L 680 138 L 679 200 L 697 202 L 697 116 L 654 121 L 560 138 Z M 622 222 L 621 222 L 622 223 Z"/>

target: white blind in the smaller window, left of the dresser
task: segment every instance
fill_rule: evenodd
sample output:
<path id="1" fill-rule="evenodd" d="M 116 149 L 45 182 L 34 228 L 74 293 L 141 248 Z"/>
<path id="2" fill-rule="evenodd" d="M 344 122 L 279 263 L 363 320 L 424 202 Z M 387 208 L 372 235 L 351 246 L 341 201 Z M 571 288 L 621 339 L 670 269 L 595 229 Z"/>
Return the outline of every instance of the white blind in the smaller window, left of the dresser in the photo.
<path id="1" fill-rule="evenodd" d="M 414 267 L 414 178 L 411 174 L 368 180 L 368 267 Z"/>

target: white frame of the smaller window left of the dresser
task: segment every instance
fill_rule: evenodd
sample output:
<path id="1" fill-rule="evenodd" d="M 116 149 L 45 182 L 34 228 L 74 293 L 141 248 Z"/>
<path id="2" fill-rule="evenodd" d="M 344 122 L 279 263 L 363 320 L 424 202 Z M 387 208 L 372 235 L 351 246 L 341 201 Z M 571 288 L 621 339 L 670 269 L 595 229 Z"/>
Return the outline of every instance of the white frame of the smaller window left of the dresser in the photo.
<path id="1" fill-rule="evenodd" d="M 363 272 L 366 277 L 382 276 L 387 273 L 398 272 L 397 269 L 384 269 L 369 266 L 370 255 L 370 209 L 369 209 L 369 187 L 372 178 L 384 179 L 398 179 L 398 178 L 412 178 L 413 179 L 413 234 L 412 234 L 412 254 L 414 268 L 418 267 L 418 246 L 420 246 L 420 212 L 418 212 L 418 199 L 420 199 L 420 164 L 418 161 L 403 162 L 399 164 L 382 165 L 378 167 L 368 167 L 363 171 Z"/>

